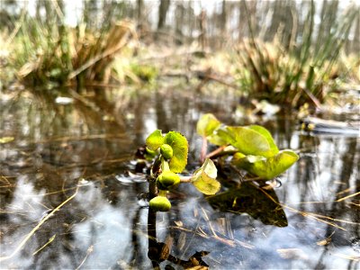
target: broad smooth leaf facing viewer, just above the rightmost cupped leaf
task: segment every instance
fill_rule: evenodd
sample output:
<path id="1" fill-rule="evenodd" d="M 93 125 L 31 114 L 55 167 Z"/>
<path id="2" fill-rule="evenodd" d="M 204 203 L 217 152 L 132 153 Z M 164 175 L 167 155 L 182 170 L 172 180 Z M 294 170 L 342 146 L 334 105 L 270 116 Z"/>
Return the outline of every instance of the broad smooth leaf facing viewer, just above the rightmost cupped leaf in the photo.
<path id="1" fill-rule="evenodd" d="M 218 130 L 218 134 L 245 155 L 274 156 L 266 137 L 257 130 L 248 127 L 226 127 Z"/>

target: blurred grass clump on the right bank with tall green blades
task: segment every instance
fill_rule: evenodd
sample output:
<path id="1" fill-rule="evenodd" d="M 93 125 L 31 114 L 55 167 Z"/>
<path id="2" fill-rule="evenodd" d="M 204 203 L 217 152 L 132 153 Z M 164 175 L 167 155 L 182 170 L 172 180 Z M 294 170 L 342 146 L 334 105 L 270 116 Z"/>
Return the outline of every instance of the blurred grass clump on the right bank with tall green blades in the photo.
<path id="1" fill-rule="evenodd" d="M 311 8 L 301 36 L 291 38 L 286 48 L 281 32 L 273 42 L 254 35 L 238 48 L 237 78 L 240 88 L 258 99 L 300 107 L 303 103 L 320 106 L 336 87 L 338 57 L 356 21 L 357 10 L 348 9 L 324 40 L 316 40 L 315 6 Z M 298 40 L 295 42 L 295 40 Z"/>

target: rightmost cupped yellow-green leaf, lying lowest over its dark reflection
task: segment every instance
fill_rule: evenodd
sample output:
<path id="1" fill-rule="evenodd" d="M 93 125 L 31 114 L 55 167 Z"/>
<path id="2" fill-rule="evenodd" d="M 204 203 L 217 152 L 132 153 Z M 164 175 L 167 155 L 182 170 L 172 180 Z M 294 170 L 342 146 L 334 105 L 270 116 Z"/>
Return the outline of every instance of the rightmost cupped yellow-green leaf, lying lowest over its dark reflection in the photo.
<path id="1" fill-rule="evenodd" d="M 235 156 L 232 163 L 263 179 L 273 179 L 292 166 L 299 156 L 293 150 L 280 151 L 275 157 Z"/>

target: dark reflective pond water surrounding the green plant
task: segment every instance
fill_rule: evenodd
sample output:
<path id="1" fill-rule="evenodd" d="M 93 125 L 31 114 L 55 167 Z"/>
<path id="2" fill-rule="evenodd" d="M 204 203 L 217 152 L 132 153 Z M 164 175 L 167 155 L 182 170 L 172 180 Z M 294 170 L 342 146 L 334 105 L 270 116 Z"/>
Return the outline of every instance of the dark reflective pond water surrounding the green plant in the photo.
<path id="1" fill-rule="evenodd" d="M 230 93 L 167 90 L 67 105 L 2 95 L 0 138 L 14 140 L 0 144 L 0 268 L 359 269 L 359 139 L 302 134 L 290 113 L 258 120 L 280 148 L 300 150 L 281 186 L 239 184 L 224 170 L 219 195 L 181 184 L 171 211 L 149 213 L 133 154 L 151 131 L 184 133 L 191 173 L 202 113 L 246 123 Z"/>

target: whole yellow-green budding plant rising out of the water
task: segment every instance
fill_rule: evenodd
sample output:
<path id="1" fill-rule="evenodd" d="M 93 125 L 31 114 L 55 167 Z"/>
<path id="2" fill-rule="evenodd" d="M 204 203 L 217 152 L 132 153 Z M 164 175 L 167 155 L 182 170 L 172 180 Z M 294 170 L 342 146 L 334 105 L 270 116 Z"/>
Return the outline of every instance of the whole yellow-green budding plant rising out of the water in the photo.
<path id="1" fill-rule="evenodd" d="M 231 157 L 226 158 L 229 166 L 247 171 L 251 180 L 269 180 L 284 173 L 299 158 L 293 150 L 280 151 L 270 132 L 261 126 L 230 127 L 208 113 L 202 115 L 196 128 L 202 136 L 203 163 L 191 176 L 177 175 L 187 164 L 188 143 L 182 134 L 169 131 L 163 135 L 161 130 L 155 130 L 146 139 L 144 157 L 153 157 L 154 160 L 149 175 L 149 205 L 153 211 L 170 209 L 166 193 L 180 182 L 191 183 L 207 195 L 219 192 L 217 167 L 211 159 Z M 206 155 L 208 141 L 219 148 Z"/>

